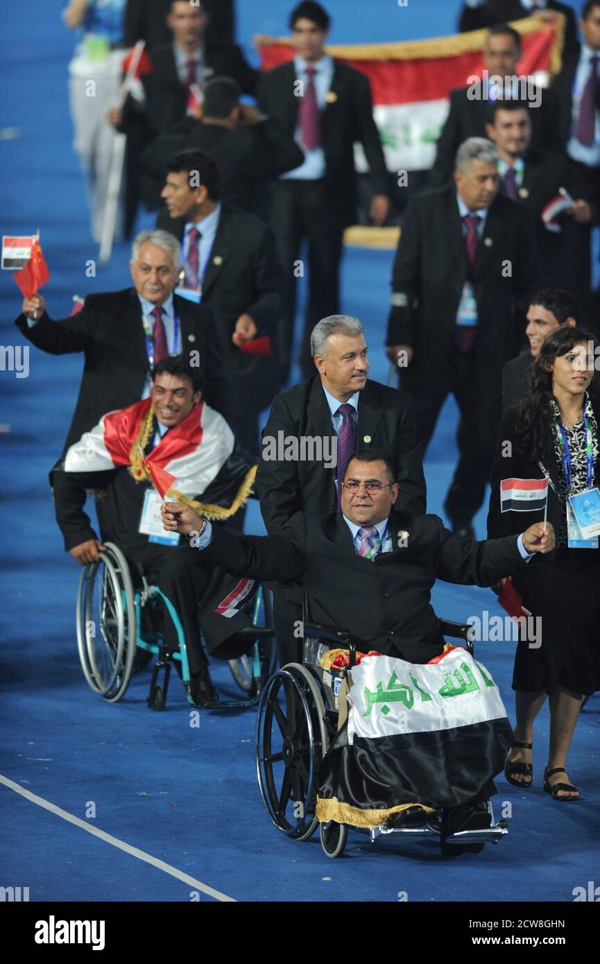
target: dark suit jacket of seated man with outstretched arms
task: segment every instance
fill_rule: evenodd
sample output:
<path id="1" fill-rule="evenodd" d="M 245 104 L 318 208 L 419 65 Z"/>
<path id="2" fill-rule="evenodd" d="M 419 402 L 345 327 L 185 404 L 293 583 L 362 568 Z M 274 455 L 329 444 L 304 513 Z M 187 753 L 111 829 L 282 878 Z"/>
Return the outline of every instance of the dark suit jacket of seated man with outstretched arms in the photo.
<path id="1" fill-rule="evenodd" d="M 437 516 L 393 513 L 390 531 L 408 532 L 404 548 L 361 558 L 339 513 L 298 512 L 271 536 L 215 531 L 199 552 L 235 576 L 286 578 L 302 585 L 315 622 L 349 630 L 365 650 L 424 663 L 442 652 L 443 637 L 431 607 L 436 578 L 489 586 L 527 565 L 517 539 L 494 543 L 458 540 Z"/>

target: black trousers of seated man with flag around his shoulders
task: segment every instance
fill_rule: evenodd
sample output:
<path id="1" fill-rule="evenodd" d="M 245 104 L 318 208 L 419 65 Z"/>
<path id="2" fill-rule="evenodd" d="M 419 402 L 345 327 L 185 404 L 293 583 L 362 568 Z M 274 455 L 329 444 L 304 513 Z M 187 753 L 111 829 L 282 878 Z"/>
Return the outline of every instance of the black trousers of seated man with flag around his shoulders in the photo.
<path id="1" fill-rule="evenodd" d="M 208 664 L 198 619 L 198 604 L 210 582 L 208 569 L 190 557 L 186 546 L 160 546 L 150 543 L 145 536 L 123 535 L 119 545 L 132 576 L 136 576 L 138 566 L 142 566 L 148 582 L 157 585 L 175 606 L 183 629 L 190 673 L 197 673 Z M 177 631 L 166 607 L 162 629 L 169 646 L 177 649 Z"/>

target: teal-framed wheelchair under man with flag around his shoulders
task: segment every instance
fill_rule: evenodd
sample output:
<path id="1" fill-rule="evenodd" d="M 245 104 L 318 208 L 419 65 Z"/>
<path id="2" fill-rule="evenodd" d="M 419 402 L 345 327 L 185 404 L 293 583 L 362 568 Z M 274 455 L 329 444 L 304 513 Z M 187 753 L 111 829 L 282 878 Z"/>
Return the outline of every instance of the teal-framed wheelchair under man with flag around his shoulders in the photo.
<path id="1" fill-rule="evenodd" d="M 77 647 L 87 683 L 108 703 L 117 703 L 131 680 L 136 652 L 146 651 L 158 657 L 150 679 L 149 709 L 164 709 L 174 664 L 186 699 L 195 706 L 183 629 L 175 607 L 143 575 L 134 584 L 123 551 L 112 542 L 105 546 L 100 560 L 84 568 L 77 592 Z M 233 680 L 244 696 L 219 702 L 215 709 L 254 706 L 277 669 L 270 593 L 259 586 L 247 605 L 251 625 L 236 634 L 242 655 L 228 660 Z M 169 617 L 177 629 L 177 649 L 166 643 L 160 631 L 162 620 Z"/>

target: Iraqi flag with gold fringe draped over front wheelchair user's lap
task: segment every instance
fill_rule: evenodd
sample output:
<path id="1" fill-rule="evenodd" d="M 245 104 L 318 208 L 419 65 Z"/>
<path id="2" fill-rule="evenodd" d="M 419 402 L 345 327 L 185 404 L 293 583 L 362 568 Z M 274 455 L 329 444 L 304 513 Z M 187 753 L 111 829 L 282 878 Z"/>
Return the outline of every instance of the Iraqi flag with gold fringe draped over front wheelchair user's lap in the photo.
<path id="1" fill-rule="evenodd" d="M 317 777 L 316 816 L 359 827 L 409 806 L 434 814 L 494 792 L 510 723 L 491 674 L 462 647 L 423 665 L 365 656 Z"/>

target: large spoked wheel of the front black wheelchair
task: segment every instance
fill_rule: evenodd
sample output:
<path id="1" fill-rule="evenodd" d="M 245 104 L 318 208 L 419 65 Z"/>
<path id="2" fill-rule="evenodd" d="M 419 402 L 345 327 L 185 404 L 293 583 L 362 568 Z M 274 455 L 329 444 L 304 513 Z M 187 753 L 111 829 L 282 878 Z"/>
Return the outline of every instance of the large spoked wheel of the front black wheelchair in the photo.
<path id="1" fill-rule="evenodd" d="M 256 754 L 266 812 L 292 840 L 308 840 L 316 829 L 314 781 L 328 746 L 319 685 L 305 666 L 288 663 L 262 691 Z"/>

